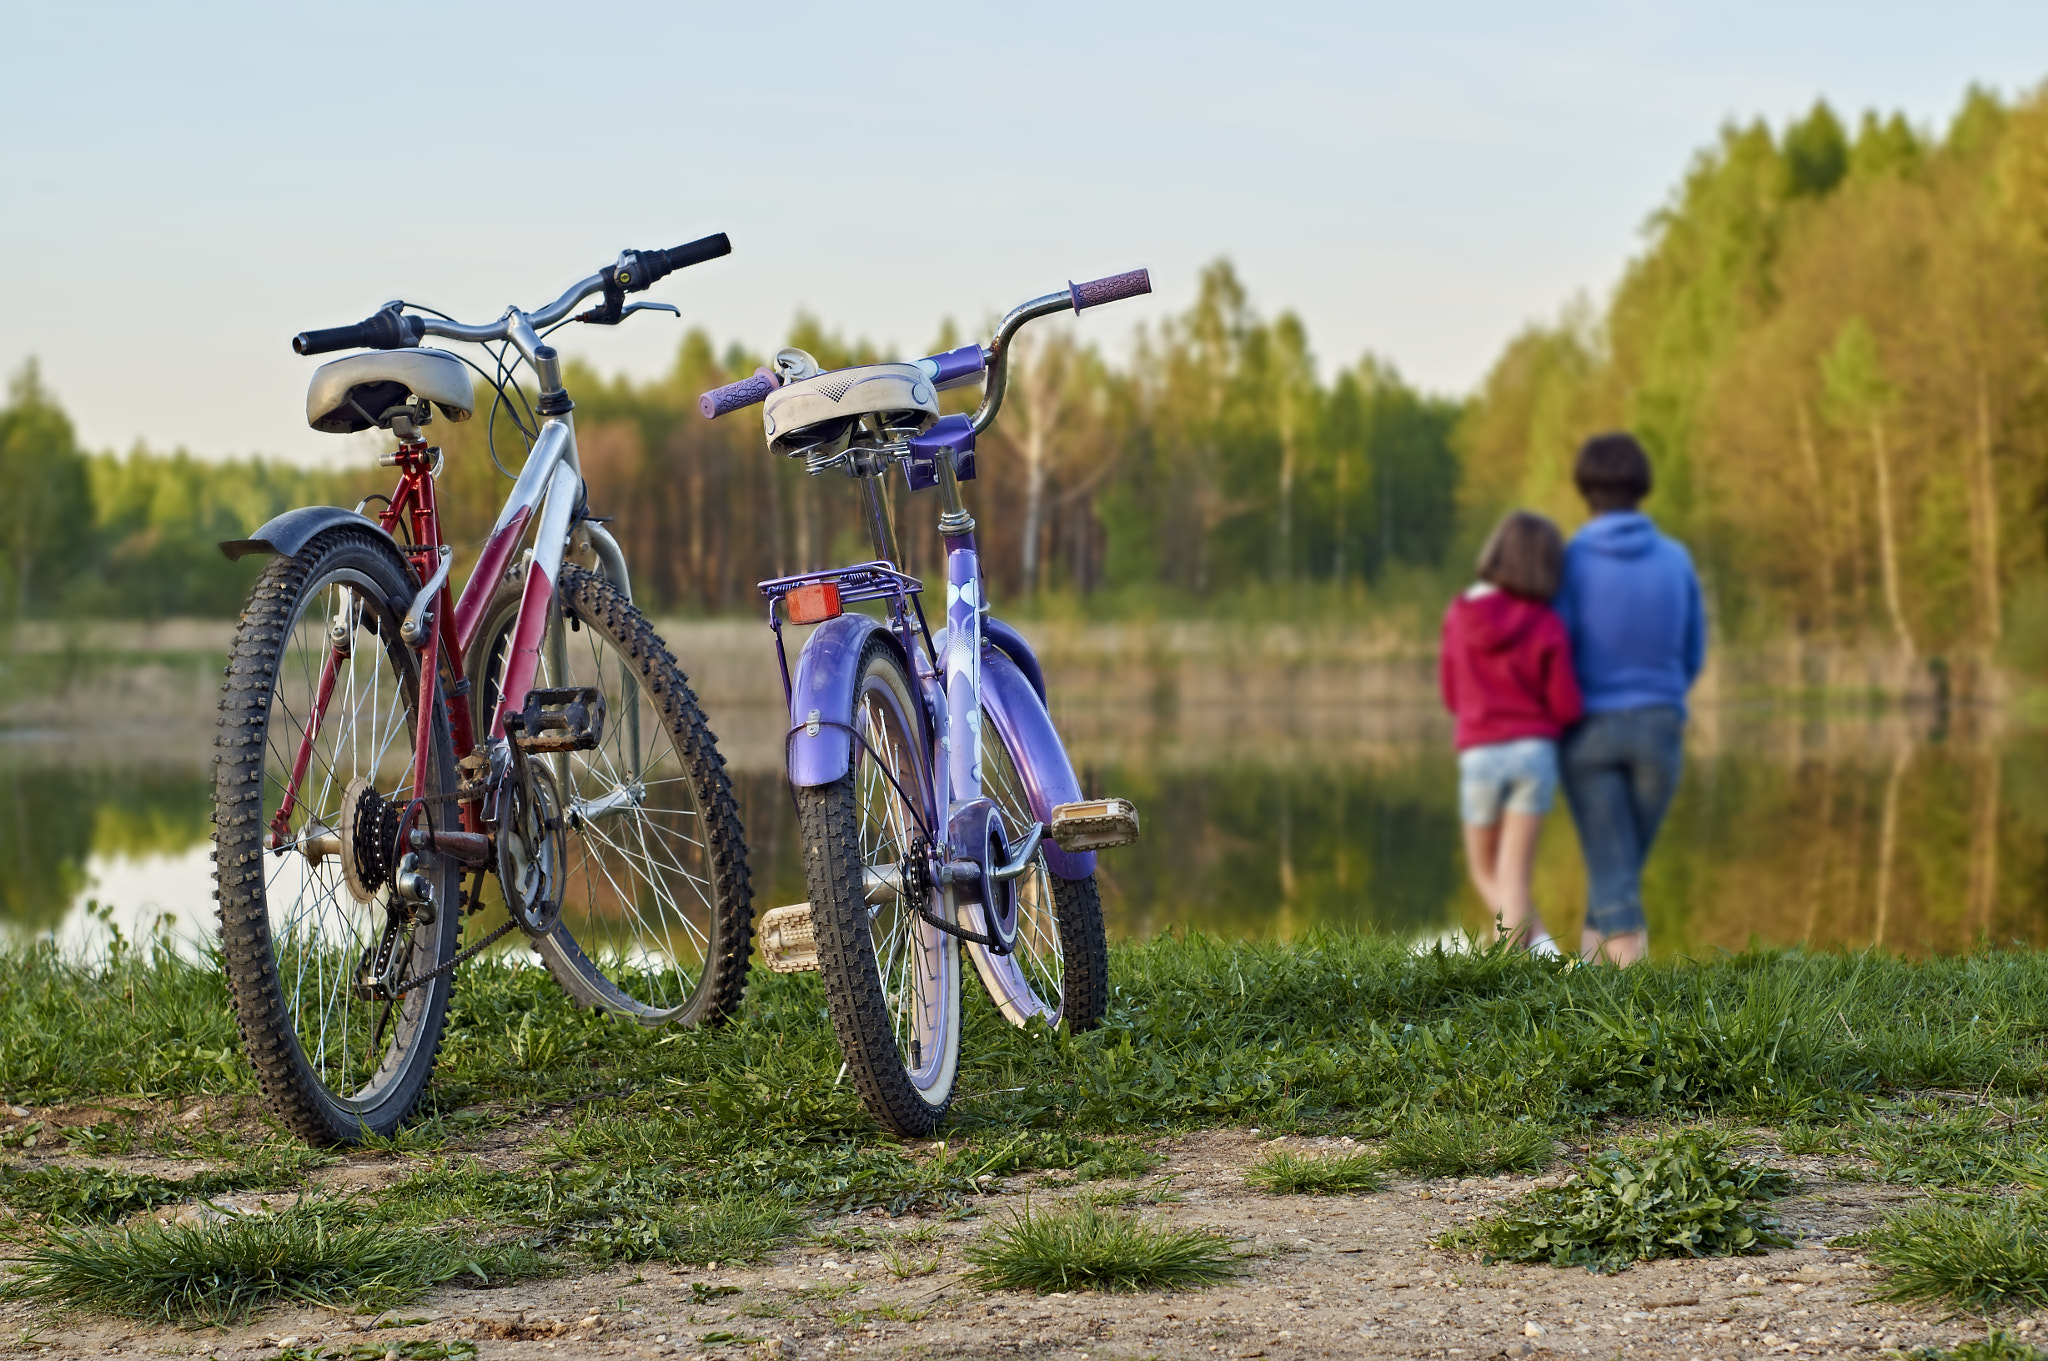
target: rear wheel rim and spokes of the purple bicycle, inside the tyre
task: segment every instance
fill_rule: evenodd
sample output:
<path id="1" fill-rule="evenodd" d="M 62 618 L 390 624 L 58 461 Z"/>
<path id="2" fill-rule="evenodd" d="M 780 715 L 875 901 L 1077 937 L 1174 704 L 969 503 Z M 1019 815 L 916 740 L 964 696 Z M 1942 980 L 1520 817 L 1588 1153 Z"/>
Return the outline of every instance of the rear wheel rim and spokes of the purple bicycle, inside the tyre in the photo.
<path id="1" fill-rule="evenodd" d="M 922 855 L 922 829 L 909 798 L 924 790 L 924 763 L 903 696 L 868 673 L 854 718 L 862 743 L 854 751 L 854 813 L 862 878 L 868 868 L 899 866 Z M 907 796 L 907 798 L 905 798 Z M 889 1027 L 911 1087 L 952 1091 L 958 1015 L 958 950 L 950 935 L 918 915 L 899 894 L 868 903 L 868 941 L 881 974 Z"/>

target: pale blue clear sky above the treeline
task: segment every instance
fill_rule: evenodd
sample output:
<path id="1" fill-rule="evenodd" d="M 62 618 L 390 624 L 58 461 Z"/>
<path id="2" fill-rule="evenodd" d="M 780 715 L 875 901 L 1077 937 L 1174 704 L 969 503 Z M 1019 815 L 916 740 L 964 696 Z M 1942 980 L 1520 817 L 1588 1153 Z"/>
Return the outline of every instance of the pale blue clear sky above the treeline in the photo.
<path id="1" fill-rule="evenodd" d="M 1817 98 L 1939 129 L 2048 78 L 2048 6 L 1440 4 L 10 6 L 0 368 L 92 448 L 326 460 L 289 338 L 389 299 L 539 307 L 621 248 L 729 231 L 569 327 L 664 372 L 688 325 L 799 311 L 922 354 L 952 317 L 1147 266 L 1090 311 L 1122 352 L 1229 258 L 1325 372 L 1466 393 L 1524 325 L 1602 299 L 1731 119 Z"/>

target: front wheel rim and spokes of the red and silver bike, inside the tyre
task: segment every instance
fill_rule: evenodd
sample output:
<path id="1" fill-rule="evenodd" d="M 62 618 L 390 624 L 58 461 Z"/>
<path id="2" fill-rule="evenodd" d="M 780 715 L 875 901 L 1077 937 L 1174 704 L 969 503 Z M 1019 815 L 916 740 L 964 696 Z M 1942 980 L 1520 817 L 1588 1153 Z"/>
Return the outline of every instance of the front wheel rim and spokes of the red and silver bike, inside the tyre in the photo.
<path id="1" fill-rule="evenodd" d="M 492 704 L 514 620 L 492 649 Z M 578 968 L 602 1005 L 664 1021 L 702 982 L 717 919 L 709 819 L 690 767 L 639 665 L 588 620 L 571 630 L 555 612 L 535 686 L 590 686 L 606 714 L 594 749 L 541 757 L 569 810 L 561 925 L 541 948 Z"/>

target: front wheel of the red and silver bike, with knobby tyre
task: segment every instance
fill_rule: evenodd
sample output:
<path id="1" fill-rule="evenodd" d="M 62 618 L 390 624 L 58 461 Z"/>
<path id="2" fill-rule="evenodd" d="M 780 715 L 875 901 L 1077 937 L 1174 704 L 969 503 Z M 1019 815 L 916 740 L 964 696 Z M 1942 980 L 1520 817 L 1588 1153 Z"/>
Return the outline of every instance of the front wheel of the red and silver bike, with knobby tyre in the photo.
<path id="1" fill-rule="evenodd" d="M 469 647 L 479 735 L 522 591 L 522 573 L 498 585 Z M 561 923 L 535 950 L 586 1007 L 643 1025 L 727 1019 L 748 986 L 754 896 L 725 759 L 682 667 L 618 587 L 565 565 L 535 686 L 590 686 L 606 712 L 598 747 L 541 757 L 569 853 Z"/>

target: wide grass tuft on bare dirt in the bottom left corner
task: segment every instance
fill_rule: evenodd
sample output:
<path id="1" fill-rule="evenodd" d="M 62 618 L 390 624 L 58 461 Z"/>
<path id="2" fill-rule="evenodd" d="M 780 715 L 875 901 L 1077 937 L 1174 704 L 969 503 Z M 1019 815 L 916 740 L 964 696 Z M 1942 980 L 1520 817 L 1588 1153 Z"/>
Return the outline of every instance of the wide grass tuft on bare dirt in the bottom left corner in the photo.
<path id="1" fill-rule="evenodd" d="M 530 1275 L 516 1246 L 362 1224 L 340 1203 L 135 1230 L 51 1232 L 12 1267 L 10 1300 L 137 1318 L 229 1322 L 279 1302 L 391 1306 L 457 1275 Z"/>

